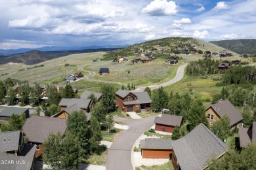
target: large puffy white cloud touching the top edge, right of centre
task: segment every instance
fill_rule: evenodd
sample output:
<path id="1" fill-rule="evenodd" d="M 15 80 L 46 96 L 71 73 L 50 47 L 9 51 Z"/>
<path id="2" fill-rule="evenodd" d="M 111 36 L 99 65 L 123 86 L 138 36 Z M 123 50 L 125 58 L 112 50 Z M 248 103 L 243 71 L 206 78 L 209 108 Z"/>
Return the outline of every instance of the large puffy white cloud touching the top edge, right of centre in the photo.
<path id="1" fill-rule="evenodd" d="M 175 15 L 178 12 L 178 6 L 174 1 L 154 0 L 142 9 L 142 14 L 151 16 L 168 16 Z"/>

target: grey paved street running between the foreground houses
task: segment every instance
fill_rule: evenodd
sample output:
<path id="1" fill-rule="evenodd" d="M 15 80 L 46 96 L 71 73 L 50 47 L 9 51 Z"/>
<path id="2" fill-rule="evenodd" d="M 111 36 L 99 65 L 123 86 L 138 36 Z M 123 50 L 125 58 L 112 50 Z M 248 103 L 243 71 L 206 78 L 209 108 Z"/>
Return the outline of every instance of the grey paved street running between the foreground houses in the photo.
<path id="1" fill-rule="evenodd" d="M 107 170 L 132 170 L 131 152 L 133 144 L 137 138 L 147 129 L 154 125 L 156 116 L 150 116 L 143 119 L 125 119 L 123 117 L 115 117 L 116 121 L 121 121 L 129 126 L 129 129 L 123 131 L 119 137 L 113 142 L 108 150 L 106 160 Z"/>

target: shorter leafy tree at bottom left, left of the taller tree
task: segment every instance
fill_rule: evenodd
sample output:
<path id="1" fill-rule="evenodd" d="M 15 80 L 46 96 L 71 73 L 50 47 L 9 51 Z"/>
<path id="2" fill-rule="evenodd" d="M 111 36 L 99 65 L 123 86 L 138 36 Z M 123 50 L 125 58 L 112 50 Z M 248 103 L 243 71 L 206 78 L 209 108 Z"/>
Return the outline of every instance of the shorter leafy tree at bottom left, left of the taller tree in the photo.
<path id="1" fill-rule="evenodd" d="M 43 162 L 49 165 L 52 169 L 60 170 L 61 157 L 65 154 L 62 150 L 62 135 L 60 133 L 51 133 L 43 142 Z"/>

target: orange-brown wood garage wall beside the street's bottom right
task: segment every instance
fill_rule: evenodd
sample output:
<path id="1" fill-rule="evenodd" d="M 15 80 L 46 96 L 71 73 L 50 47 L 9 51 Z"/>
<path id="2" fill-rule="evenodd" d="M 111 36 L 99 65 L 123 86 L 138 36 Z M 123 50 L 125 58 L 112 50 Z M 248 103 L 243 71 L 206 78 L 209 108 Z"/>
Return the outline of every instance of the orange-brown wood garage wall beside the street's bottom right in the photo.
<path id="1" fill-rule="evenodd" d="M 142 149 L 142 158 L 169 159 L 173 150 Z"/>

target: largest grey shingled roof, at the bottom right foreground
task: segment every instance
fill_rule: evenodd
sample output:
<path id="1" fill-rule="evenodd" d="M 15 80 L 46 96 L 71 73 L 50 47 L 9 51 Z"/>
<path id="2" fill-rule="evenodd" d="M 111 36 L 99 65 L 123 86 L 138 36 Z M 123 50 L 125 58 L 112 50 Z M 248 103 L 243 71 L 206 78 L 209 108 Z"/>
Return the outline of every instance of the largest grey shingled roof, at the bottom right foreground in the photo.
<path id="1" fill-rule="evenodd" d="M 172 144 L 182 170 L 203 169 L 210 159 L 219 158 L 228 150 L 228 146 L 202 123 Z"/>

